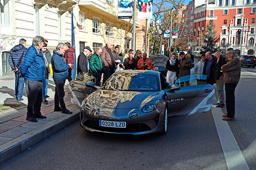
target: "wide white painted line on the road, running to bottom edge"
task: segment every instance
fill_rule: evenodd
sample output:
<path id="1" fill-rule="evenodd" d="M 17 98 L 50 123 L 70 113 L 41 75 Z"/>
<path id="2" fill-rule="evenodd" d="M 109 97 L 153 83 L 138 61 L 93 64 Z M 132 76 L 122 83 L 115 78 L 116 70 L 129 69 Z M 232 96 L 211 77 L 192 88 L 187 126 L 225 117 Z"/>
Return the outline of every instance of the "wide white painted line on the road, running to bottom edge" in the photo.
<path id="1" fill-rule="evenodd" d="M 211 111 L 227 162 L 227 168 L 229 170 L 249 170 L 227 121 L 222 120 L 223 112 L 221 108 L 216 108 L 216 106 L 212 105 Z"/>

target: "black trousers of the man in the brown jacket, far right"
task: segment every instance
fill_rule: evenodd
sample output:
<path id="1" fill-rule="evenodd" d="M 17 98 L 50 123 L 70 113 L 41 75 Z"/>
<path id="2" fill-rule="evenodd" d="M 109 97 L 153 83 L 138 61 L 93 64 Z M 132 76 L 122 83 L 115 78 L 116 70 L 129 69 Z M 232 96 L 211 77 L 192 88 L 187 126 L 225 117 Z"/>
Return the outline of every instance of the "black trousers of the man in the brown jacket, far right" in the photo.
<path id="1" fill-rule="evenodd" d="M 237 84 L 225 83 L 227 117 L 235 116 L 235 88 Z"/>

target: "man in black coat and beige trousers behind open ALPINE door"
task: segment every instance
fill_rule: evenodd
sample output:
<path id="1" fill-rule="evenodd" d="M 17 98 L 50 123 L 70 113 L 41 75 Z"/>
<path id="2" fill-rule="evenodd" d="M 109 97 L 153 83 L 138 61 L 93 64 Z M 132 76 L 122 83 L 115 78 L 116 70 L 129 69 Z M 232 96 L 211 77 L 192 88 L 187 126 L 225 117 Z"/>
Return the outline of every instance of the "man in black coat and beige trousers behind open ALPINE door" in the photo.
<path id="1" fill-rule="evenodd" d="M 222 70 L 221 70 L 221 66 L 226 64 L 227 61 L 224 57 L 221 56 L 221 53 L 219 51 L 214 53 L 214 57 L 217 58 L 217 60 L 212 63 L 213 65 L 213 79 L 216 82 L 216 86 L 217 86 L 217 90 L 218 90 L 218 102 L 213 103 L 213 105 L 217 105 L 217 108 L 221 108 L 224 106 L 224 83 L 219 82 L 218 80 L 220 79 L 220 77 L 222 76 Z"/>

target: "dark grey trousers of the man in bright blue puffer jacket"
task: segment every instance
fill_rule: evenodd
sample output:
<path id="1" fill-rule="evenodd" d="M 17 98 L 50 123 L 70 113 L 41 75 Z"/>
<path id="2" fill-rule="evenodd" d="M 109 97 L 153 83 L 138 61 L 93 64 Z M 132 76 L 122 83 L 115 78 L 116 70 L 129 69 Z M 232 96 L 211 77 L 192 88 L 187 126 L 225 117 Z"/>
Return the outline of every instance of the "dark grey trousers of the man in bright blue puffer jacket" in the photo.
<path id="1" fill-rule="evenodd" d="M 41 115 L 43 81 L 25 79 L 25 84 L 28 96 L 27 117 Z"/>

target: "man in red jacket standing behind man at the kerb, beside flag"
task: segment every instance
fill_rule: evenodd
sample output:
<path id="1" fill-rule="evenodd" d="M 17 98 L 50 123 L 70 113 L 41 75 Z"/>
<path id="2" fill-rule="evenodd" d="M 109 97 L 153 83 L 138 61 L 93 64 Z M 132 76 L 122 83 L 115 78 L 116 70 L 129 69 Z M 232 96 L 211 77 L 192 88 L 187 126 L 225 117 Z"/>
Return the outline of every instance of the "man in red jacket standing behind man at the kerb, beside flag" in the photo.
<path id="1" fill-rule="evenodd" d="M 67 51 L 65 51 L 64 58 L 66 59 L 67 64 L 71 64 L 71 67 L 68 69 L 68 81 L 70 82 L 72 80 L 72 69 L 74 68 L 74 52 L 75 49 L 71 47 L 69 42 L 65 43 L 67 45 Z"/>

